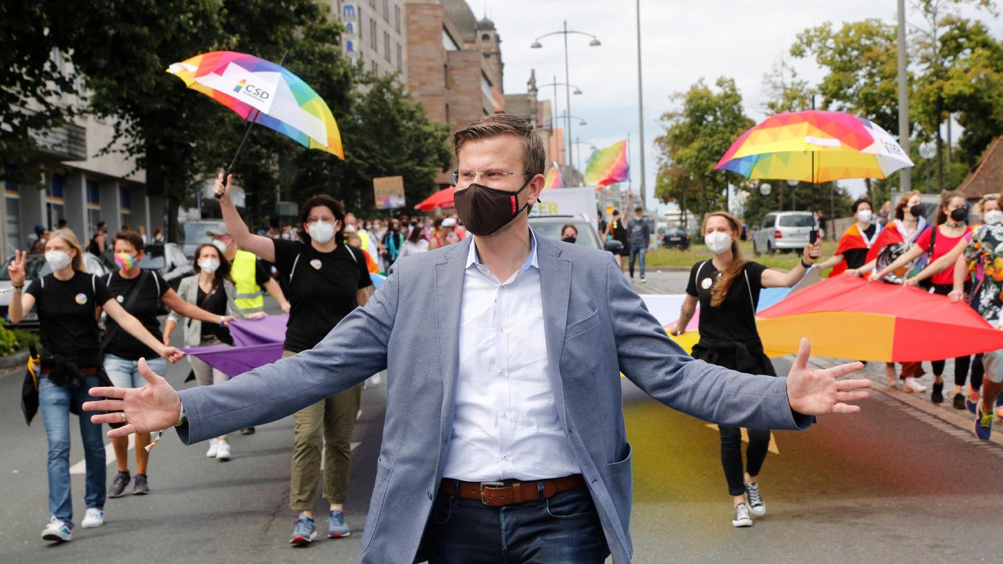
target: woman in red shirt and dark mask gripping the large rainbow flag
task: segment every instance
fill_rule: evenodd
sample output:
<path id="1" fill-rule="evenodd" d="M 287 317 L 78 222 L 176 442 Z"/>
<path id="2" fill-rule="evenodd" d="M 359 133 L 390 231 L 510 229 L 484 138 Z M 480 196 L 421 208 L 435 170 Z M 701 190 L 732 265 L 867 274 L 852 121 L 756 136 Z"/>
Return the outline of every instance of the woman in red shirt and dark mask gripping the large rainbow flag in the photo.
<path id="1" fill-rule="evenodd" d="M 912 249 L 885 267 L 873 279 L 881 280 L 888 273 L 895 272 L 912 263 L 923 253 L 930 253 L 930 262 L 950 253 L 972 231 L 965 223 L 967 217 L 968 208 L 965 198 L 957 192 L 945 193 L 941 197 L 940 212 L 937 214 L 937 227 L 928 229 L 920 235 Z M 954 289 L 954 268 L 952 266 L 933 276 L 933 288 L 930 289 L 930 293 L 943 296 L 951 293 L 951 290 Z M 968 373 L 970 357 L 959 356 L 954 360 L 955 379 L 957 380 L 959 374 Z M 931 364 L 934 369 L 934 388 L 930 394 L 930 400 L 934 403 L 942 403 L 944 401 L 944 360 L 934 360 Z"/>

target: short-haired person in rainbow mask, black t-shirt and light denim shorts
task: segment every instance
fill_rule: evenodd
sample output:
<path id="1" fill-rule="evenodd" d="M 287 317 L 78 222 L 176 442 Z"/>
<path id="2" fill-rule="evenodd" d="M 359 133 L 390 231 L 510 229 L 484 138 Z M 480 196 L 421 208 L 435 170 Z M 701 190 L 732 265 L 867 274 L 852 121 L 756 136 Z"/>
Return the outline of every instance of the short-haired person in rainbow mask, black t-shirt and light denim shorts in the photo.
<path id="1" fill-rule="evenodd" d="M 138 233 L 122 231 L 116 233 L 112 241 L 114 261 L 119 269 L 104 278 L 108 291 L 126 311 L 131 313 L 142 326 L 157 339 L 162 339 L 160 321 L 157 314 L 160 303 L 193 319 L 219 325 L 231 318 L 210 313 L 183 300 L 171 285 L 156 271 L 141 270 L 145 245 Z M 134 294 L 134 298 L 133 298 Z M 104 339 L 104 370 L 115 387 L 142 387 L 145 382 L 139 374 L 139 359 L 146 358 L 149 369 L 159 376 L 165 376 L 168 365 L 162 358 L 151 358 L 155 353 L 145 344 L 124 331 L 117 330 L 117 323 L 109 319 L 105 323 L 107 332 Z M 163 344 L 168 344 L 164 342 Z M 149 445 L 148 433 L 138 433 L 135 438 L 135 486 L 133 494 L 149 493 L 146 481 L 146 463 L 149 453 L 143 447 Z M 131 480 L 128 472 L 128 438 L 116 437 L 111 440 L 115 451 L 118 474 L 112 479 L 108 489 L 109 498 L 117 498 L 125 491 Z"/>

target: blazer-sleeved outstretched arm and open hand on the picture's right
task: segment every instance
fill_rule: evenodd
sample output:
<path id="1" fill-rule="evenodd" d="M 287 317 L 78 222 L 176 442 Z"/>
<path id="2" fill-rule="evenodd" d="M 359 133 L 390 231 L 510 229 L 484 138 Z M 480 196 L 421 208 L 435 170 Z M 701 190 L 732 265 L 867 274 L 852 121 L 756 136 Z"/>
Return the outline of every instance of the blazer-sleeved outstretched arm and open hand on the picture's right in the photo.
<path id="1" fill-rule="evenodd" d="M 859 362 L 809 370 L 807 343 L 787 378 L 750 375 L 687 356 L 644 308 L 616 263 L 607 272 L 610 317 L 620 369 L 646 393 L 696 417 L 730 427 L 807 429 L 810 415 L 853 412 L 870 380 L 838 380 Z M 848 394 L 849 392 L 849 394 Z"/>

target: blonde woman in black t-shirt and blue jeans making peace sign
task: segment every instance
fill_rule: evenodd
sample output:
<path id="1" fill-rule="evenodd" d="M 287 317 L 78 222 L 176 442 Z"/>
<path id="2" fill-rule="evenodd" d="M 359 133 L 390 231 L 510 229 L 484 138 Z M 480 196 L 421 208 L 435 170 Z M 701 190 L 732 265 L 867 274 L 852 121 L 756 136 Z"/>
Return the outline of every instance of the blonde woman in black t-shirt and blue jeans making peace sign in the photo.
<path id="1" fill-rule="evenodd" d="M 38 307 L 40 341 L 43 348 L 41 374 L 38 378 L 38 406 L 48 439 L 49 524 L 42 538 L 68 541 L 73 532 L 73 507 L 70 502 L 69 413 L 80 413 L 84 401 L 96 399 L 89 388 L 110 385 L 101 366 L 100 335 L 97 318 L 101 308 L 122 329 L 139 339 L 156 354 L 176 362 L 183 353 L 165 346 L 122 309 L 104 281 L 87 274 L 83 250 L 68 229 L 59 229 L 45 242 L 45 260 L 52 274 L 35 279 L 24 288 L 25 253 L 17 252 L 7 267 L 13 285 L 10 320 L 17 323 Z M 122 413 L 124 422 L 124 413 Z M 86 461 L 87 511 L 84 528 L 104 524 L 105 461 L 101 426 L 80 416 L 80 437 Z"/>

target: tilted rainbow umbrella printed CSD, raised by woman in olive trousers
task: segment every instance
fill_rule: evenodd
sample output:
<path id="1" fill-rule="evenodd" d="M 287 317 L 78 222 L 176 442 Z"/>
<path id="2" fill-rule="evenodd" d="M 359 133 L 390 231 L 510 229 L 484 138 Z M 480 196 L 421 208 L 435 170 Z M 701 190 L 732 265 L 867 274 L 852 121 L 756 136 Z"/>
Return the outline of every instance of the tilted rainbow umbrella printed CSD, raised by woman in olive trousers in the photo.
<path id="1" fill-rule="evenodd" d="M 331 108 L 281 62 L 275 64 L 235 51 L 212 51 L 176 62 L 168 67 L 168 72 L 251 122 L 228 171 L 256 123 L 275 129 L 307 149 L 345 159 L 341 132 Z"/>

